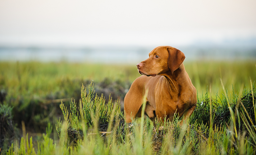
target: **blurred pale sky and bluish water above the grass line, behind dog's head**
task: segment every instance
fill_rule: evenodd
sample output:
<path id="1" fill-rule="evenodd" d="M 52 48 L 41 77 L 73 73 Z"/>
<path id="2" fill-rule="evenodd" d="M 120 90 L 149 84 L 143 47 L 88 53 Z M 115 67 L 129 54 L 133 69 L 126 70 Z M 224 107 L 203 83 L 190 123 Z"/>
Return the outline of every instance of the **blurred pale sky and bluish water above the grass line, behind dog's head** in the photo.
<path id="1" fill-rule="evenodd" d="M 254 0 L 0 0 L 0 61 L 137 64 L 161 45 L 186 60 L 255 60 L 255 7 Z"/>

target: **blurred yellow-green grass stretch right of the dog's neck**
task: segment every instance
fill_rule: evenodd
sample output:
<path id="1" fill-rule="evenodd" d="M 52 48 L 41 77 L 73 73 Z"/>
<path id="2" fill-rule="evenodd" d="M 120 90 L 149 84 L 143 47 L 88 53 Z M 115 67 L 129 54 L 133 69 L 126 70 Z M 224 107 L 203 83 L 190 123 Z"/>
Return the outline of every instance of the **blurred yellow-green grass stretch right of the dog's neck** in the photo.
<path id="1" fill-rule="evenodd" d="M 255 64 L 255 61 L 184 62 L 186 71 L 200 95 L 210 85 L 212 93 L 224 93 L 220 78 L 230 94 L 234 90 L 241 95 L 245 87 L 250 87 L 250 78 L 252 82 L 256 80 Z"/>

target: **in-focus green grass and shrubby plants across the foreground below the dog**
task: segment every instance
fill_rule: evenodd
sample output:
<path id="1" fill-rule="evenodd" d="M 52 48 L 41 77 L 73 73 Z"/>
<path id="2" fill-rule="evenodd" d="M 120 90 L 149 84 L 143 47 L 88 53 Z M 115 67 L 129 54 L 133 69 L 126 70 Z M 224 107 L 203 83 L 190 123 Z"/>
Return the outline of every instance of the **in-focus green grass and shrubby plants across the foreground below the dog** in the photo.
<path id="1" fill-rule="evenodd" d="M 253 91 L 252 91 L 253 90 Z M 243 94 L 256 95 L 255 88 L 251 92 Z M 59 143 L 56 144 L 49 137 L 49 131 L 43 135 L 43 141 L 39 142 L 37 154 L 255 154 L 256 153 L 256 122 L 252 121 L 246 108 L 239 111 L 236 105 L 236 115 L 232 113 L 230 104 L 230 119 L 225 124 L 207 124 L 199 121 L 190 121 L 180 125 L 180 120 L 175 117 L 173 122 L 165 121 L 164 124 L 156 121 L 156 126 L 144 117 L 135 120 L 131 124 L 121 123 L 123 115 L 118 103 L 109 101 L 103 105 L 103 97 L 93 97 L 93 86 L 89 85 L 89 93 L 81 89 L 79 112 L 76 103 L 71 102 L 71 113 L 61 104 L 64 123 L 58 122 L 56 129 L 59 133 Z M 207 94 L 206 94 L 207 96 Z M 251 97 L 252 97 L 251 96 Z M 224 96 L 225 97 L 225 96 Z M 226 96 L 227 97 L 227 96 Z M 207 98 L 211 101 L 211 97 Z M 239 98 L 235 98 L 236 101 Z M 221 104 L 228 103 L 223 98 Z M 199 99 L 201 101 L 201 99 Z M 241 100 L 240 100 L 241 101 Z M 256 100 L 252 97 L 254 104 Z M 244 105 L 242 102 L 234 104 Z M 115 105 L 115 106 L 113 106 Z M 211 106 L 211 104 L 210 104 Z M 102 108 L 104 107 L 104 108 Z M 244 106 L 243 106 L 244 107 Z M 253 105 L 254 111 L 256 109 Z M 143 110 L 143 109 L 142 109 Z M 207 108 L 201 109 L 208 110 Z M 245 114 L 247 113 L 247 115 Z M 80 115 L 79 115 L 80 114 Z M 253 113 L 254 115 L 255 113 Z M 209 113 L 208 113 L 209 115 Z M 117 117 L 119 116 L 119 117 Z M 196 116 L 192 116 L 196 117 Z M 212 119 L 215 116 L 211 116 Z M 115 121 L 113 121 L 115 120 Z M 242 120 L 242 121 L 241 121 Z M 251 121 L 248 122 L 248 121 Z M 115 123 L 114 123 L 115 122 Z M 116 123 L 118 122 L 118 123 Z M 239 129 L 236 130 L 236 122 Z M 108 124 L 107 130 L 99 127 Z M 113 124 L 112 124 L 113 123 Z M 75 131 L 75 132 L 74 132 Z M 77 132 L 78 131 L 78 132 Z M 11 146 L 7 154 L 36 154 L 33 148 L 32 137 L 28 142 L 21 139 L 20 147 Z"/>

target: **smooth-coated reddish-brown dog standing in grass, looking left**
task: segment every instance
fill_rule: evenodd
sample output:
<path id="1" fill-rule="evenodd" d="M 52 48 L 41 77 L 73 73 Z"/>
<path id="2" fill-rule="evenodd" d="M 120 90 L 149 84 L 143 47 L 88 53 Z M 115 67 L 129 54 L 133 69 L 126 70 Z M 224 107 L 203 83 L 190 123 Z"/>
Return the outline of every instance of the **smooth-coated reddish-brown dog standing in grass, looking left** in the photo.
<path id="1" fill-rule="evenodd" d="M 149 53 L 149 58 L 137 64 L 140 74 L 124 98 L 126 122 L 141 117 L 142 98 L 148 89 L 145 114 L 155 121 L 166 116 L 173 120 L 174 113 L 187 119 L 197 103 L 193 86 L 183 61 L 184 53 L 170 46 L 159 46 Z M 146 76 L 144 76 L 146 75 Z"/>

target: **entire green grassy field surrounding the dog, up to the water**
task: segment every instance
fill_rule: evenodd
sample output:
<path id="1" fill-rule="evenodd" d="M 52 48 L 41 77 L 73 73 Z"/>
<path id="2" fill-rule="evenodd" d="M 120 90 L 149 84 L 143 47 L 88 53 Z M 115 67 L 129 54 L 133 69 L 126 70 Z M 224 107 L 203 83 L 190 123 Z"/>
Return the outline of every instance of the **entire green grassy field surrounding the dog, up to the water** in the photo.
<path id="1" fill-rule="evenodd" d="M 183 126 L 175 119 L 160 127 L 123 121 L 136 65 L 0 62 L 1 153 L 256 154 L 255 64 L 184 62 L 197 110 Z"/>

